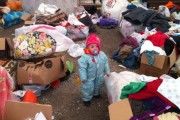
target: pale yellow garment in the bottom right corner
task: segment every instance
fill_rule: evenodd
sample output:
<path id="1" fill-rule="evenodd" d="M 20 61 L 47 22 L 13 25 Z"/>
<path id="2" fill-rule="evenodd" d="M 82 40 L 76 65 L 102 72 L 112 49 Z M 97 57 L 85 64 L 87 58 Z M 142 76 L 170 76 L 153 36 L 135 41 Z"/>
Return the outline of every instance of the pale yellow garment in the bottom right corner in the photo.
<path id="1" fill-rule="evenodd" d="M 170 112 L 168 112 L 166 114 L 159 115 L 158 119 L 159 120 L 179 120 L 177 116 L 178 116 L 177 113 L 174 113 L 174 112 L 170 113 Z"/>

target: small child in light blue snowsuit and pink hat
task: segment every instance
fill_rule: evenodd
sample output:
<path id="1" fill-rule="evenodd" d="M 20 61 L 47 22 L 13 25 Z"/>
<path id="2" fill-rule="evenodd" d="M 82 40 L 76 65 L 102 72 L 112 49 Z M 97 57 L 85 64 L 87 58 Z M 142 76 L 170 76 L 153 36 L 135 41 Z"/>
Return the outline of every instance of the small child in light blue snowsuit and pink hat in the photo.
<path id="1" fill-rule="evenodd" d="M 93 97 L 100 98 L 104 75 L 110 73 L 108 58 L 100 51 L 100 47 L 100 38 L 96 34 L 90 34 L 86 39 L 85 54 L 78 60 L 82 100 L 85 106 L 90 106 Z"/>

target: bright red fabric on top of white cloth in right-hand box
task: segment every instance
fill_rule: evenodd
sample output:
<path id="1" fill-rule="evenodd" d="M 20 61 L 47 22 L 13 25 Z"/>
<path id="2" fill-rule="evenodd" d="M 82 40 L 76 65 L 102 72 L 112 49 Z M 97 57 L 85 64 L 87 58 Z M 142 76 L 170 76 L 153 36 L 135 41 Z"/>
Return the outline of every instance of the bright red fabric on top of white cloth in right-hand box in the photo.
<path id="1" fill-rule="evenodd" d="M 169 37 L 166 34 L 164 34 L 162 32 L 157 32 L 153 35 L 148 36 L 147 40 L 150 40 L 154 46 L 164 47 L 164 42 L 168 38 Z"/>

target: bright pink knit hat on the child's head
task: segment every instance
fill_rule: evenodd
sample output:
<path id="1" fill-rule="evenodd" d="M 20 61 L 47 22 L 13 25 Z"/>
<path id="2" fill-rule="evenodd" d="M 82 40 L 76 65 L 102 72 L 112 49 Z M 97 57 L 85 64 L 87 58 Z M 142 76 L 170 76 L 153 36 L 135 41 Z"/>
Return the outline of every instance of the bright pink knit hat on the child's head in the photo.
<path id="1" fill-rule="evenodd" d="M 97 47 L 100 50 L 101 47 L 101 39 L 96 34 L 92 33 L 86 38 L 86 47 L 88 47 L 90 44 L 96 44 Z"/>

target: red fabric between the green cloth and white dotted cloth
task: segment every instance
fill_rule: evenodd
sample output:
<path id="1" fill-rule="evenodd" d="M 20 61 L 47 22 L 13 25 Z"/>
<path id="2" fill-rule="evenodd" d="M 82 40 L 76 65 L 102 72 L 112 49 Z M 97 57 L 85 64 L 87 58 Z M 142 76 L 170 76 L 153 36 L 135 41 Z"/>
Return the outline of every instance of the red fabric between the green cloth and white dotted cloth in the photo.
<path id="1" fill-rule="evenodd" d="M 129 95 L 129 98 L 136 99 L 136 100 L 143 100 L 143 99 L 148 99 L 151 97 L 159 97 L 166 104 L 175 107 L 175 105 L 172 102 L 170 102 L 168 99 L 166 99 L 164 96 L 162 96 L 160 93 L 157 92 L 157 89 L 161 85 L 161 83 L 162 83 L 161 79 L 148 82 L 144 89 L 142 89 L 141 91 L 137 93 Z"/>

